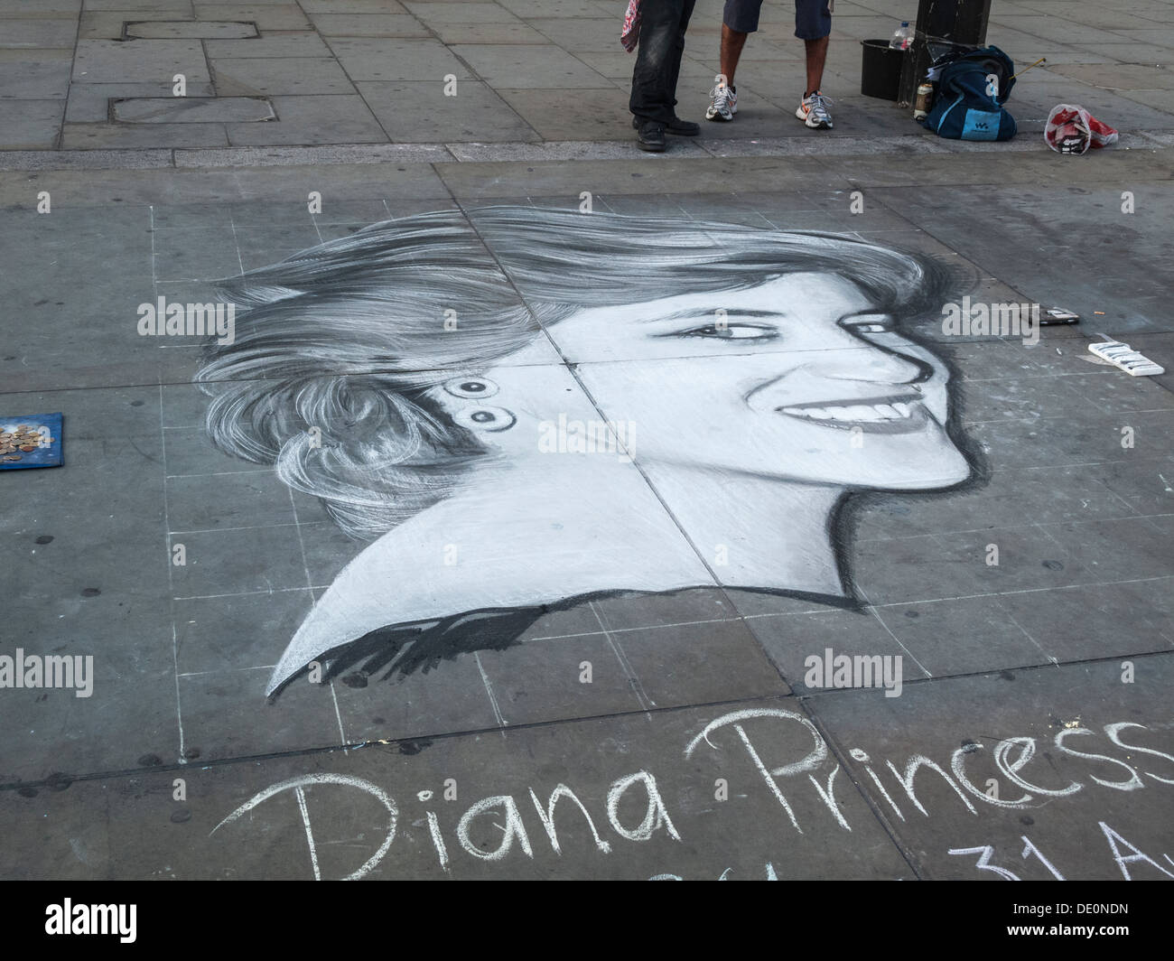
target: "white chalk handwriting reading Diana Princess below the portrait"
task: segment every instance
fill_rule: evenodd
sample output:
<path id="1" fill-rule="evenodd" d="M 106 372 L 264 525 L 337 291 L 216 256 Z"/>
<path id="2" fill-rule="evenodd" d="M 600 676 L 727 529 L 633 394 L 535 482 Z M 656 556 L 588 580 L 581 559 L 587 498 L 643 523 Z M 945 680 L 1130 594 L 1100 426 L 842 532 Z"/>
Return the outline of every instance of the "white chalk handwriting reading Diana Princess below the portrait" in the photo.
<path id="1" fill-rule="evenodd" d="M 785 764 L 768 764 L 747 732 L 748 726 L 753 727 L 761 746 L 764 742 L 761 737 L 765 730 L 764 725 L 775 727 L 770 732 L 775 735 L 771 739 L 772 742 L 777 742 L 780 735 L 802 734 L 805 730 L 807 737 L 810 738 L 810 748 L 802 757 L 796 757 Z M 1065 727 L 1054 737 L 1048 735 L 1044 745 L 1044 754 L 1050 753 L 1051 745 L 1061 755 L 1079 759 L 1081 764 L 1089 766 L 1087 779 L 1068 780 L 1067 784 L 1061 781 L 1071 775 L 1059 775 L 1051 761 L 1041 761 L 1037 762 L 1034 767 L 1031 766 L 1039 742 L 1033 737 L 1004 738 L 990 747 L 977 741 L 964 741 L 963 746 L 953 751 L 949 759 L 943 758 L 943 764 L 923 754 L 913 754 L 904 764 L 893 764 L 889 759 L 880 764 L 879 760 L 871 759 L 865 751 L 858 747 L 851 748 L 849 755 L 863 767 L 863 775 L 859 775 L 858 779 L 863 781 L 866 777 L 876 786 L 884 805 L 888 805 L 892 814 L 902 821 L 916 816 L 915 812 L 919 812 L 926 818 L 930 816 L 930 812 L 925 807 L 926 792 L 924 788 L 930 782 L 925 778 L 931 774 L 940 779 L 938 797 L 942 795 L 942 785 L 945 785 L 947 797 L 952 791 L 957 795 L 958 802 L 964 805 L 971 814 L 977 815 L 984 805 L 1017 809 L 1031 808 L 1041 804 L 1053 804 L 1054 799 L 1077 794 L 1092 785 L 1126 792 L 1138 791 L 1154 784 L 1174 785 L 1174 754 L 1145 746 L 1146 734 L 1142 732 L 1147 730 L 1145 725 L 1132 721 L 1106 724 L 1101 728 L 1104 738 L 1114 747 L 1125 751 L 1132 764 L 1109 754 L 1080 750 L 1081 747 L 1088 748 L 1100 740 L 1100 735 L 1089 728 Z M 731 750 L 749 759 L 761 775 L 764 788 L 774 795 L 781 813 L 796 832 L 802 834 L 805 828 L 821 831 L 832 825 L 842 831 L 852 829 L 836 799 L 836 775 L 842 767 L 831 755 L 826 741 L 807 717 L 792 711 L 769 707 L 723 714 L 706 725 L 686 745 L 684 759 L 696 764 L 708 755 L 718 766 L 720 773 L 721 766 Z M 1003 791 L 991 789 L 991 781 L 986 781 L 984 785 L 986 789 L 980 788 L 967 773 L 967 766 L 977 764 L 977 759 L 983 754 L 987 754 L 986 760 L 993 764 L 1000 778 L 1011 785 L 1010 788 L 1006 788 L 1006 797 L 1003 797 Z M 1151 771 L 1151 767 L 1156 767 L 1158 771 Z M 819 773 L 818 779 L 815 777 L 816 772 Z M 917 781 L 919 773 L 923 774 L 922 781 Z M 1109 773 L 1113 773 L 1114 777 L 1101 777 Z M 306 839 L 310 842 L 313 873 L 318 878 L 321 876 L 318 860 L 304 795 L 304 788 L 312 785 L 337 785 L 352 788 L 370 795 L 382 806 L 380 821 L 384 818 L 386 820 L 378 848 L 366 862 L 346 875 L 344 880 L 363 878 L 373 871 L 391 849 L 400 821 L 400 807 L 394 798 L 378 785 L 360 778 L 332 773 L 290 778 L 255 794 L 224 818 L 212 828 L 211 833 L 215 834 L 232 822 L 239 821 L 243 815 L 249 814 L 270 798 L 288 791 L 294 792 L 298 799 Z M 917 795 L 918 786 L 923 788 L 922 798 Z M 798 797 L 799 792 L 805 793 L 809 799 L 814 792 L 818 800 L 815 808 L 817 811 L 821 809 L 819 804 L 822 802 L 823 808 L 826 809 L 826 818 L 822 819 L 822 822 L 799 824 L 790 800 Z M 607 802 L 603 811 L 596 812 L 594 818 L 587 805 L 565 784 L 559 784 L 548 793 L 545 791 L 542 793 L 545 798 L 540 797 L 533 787 L 527 787 L 525 794 L 519 792 L 517 797 L 514 794 L 497 794 L 481 798 L 464 812 L 457 822 L 456 831 L 451 832 L 451 836 L 447 838 L 440 827 L 436 812 L 426 811 L 429 842 L 440 868 L 445 872 L 451 871 L 454 856 L 467 855 L 478 861 L 501 861 L 513 854 L 514 856 L 533 859 L 535 847 L 539 845 L 538 839 L 542 835 L 546 836 L 546 840 L 541 844 L 549 844 L 554 854 L 560 855 L 562 849 L 555 825 L 556 808 L 564 812 L 564 818 L 574 818 L 572 811 L 578 808 L 579 816 L 585 819 L 594 847 L 600 855 L 613 853 L 618 842 L 643 844 L 654 838 L 667 838 L 672 841 L 682 840 L 677 828 L 677 822 L 681 819 L 674 820 L 673 812 L 669 811 L 661 795 L 656 778 L 649 771 L 636 771 L 616 778 L 607 791 Z M 1016 797 L 1017 794 L 1018 797 Z M 432 793 L 426 791 L 418 797 L 421 801 L 427 801 L 432 798 Z M 562 801 L 561 807 L 559 807 L 559 801 Z M 641 811 L 643 812 L 642 816 Z M 532 813 L 524 816 L 524 812 Z M 244 819 L 245 822 L 251 821 L 252 816 Z M 488 832 L 486 825 L 494 829 Z M 478 839 L 485 836 L 488 836 L 495 846 L 484 840 L 478 844 Z"/>

